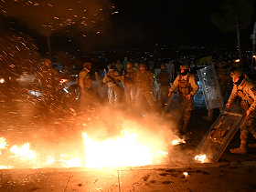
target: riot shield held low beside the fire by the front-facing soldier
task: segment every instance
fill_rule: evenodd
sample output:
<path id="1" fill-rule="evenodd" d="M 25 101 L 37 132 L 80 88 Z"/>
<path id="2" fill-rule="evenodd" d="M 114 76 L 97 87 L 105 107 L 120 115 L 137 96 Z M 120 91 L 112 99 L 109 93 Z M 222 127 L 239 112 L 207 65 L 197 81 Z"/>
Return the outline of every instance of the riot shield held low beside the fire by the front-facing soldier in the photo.
<path id="1" fill-rule="evenodd" d="M 178 93 L 172 93 L 172 96 L 167 101 L 162 116 L 168 116 L 173 121 L 174 126 L 177 127 L 182 114 L 187 106 L 187 99 L 181 102 Z"/>

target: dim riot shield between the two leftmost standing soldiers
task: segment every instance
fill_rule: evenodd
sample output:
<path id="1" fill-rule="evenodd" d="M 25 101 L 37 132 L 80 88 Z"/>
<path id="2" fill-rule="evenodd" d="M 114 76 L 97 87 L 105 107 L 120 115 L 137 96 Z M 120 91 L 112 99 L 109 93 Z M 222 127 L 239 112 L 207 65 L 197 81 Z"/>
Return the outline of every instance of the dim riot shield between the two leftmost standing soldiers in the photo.
<path id="1" fill-rule="evenodd" d="M 105 70 L 95 72 L 95 78 L 96 78 L 96 83 L 97 83 L 97 87 L 98 87 L 101 102 L 103 102 L 104 99 L 108 98 L 107 86 L 105 84 L 103 84 L 103 82 L 102 82 L 103 77 L 105 76 L 105 74 L 106 74 Z"/>

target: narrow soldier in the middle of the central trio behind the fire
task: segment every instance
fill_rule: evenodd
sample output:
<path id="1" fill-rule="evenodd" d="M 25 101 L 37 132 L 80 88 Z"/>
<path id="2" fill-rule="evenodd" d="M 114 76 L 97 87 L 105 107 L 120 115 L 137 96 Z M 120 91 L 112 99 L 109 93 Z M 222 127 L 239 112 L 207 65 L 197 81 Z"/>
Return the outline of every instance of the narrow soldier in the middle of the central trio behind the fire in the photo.
<path id="1" fill-rule="evenodd" d="M 135 86 L 135 71 L 133 69 L 133 63 L 128 61 L 127 68 L 124 71 L 124 96 L 126 99 L 126 104 L 129 108 L 134 108 L 135 96 L 136 96 L 136 86 Z"/>

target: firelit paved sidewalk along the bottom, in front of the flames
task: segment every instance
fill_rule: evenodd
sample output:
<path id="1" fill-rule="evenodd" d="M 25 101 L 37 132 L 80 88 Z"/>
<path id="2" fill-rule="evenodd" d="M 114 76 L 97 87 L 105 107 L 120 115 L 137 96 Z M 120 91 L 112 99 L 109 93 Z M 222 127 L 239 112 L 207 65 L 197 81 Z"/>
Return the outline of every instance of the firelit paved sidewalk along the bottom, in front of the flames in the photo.
<path id="1" fill-rule="evenodd" d="M 0 191 L 253 192 L 255 176 L 256 161 L 103 169 L 2 169 Z"/>

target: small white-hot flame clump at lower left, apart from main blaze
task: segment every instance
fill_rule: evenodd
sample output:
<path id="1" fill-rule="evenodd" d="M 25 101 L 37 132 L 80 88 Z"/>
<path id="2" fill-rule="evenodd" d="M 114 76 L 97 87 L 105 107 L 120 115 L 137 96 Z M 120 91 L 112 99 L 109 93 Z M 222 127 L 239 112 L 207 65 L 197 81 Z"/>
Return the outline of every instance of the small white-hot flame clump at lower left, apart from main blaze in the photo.
<path id="1" fill-rule="evenodd" d="M 34 151 L 29 150 L 29 143 L 24 144 L 22 147 L 18 148 L 16 146 L 11 147 L 10 151 L 15 153 L 15 157 L 19 157 L 21 160 L 26 160 L 26 159 L 33 159 L 36 157 L 36 154 Z"/>

